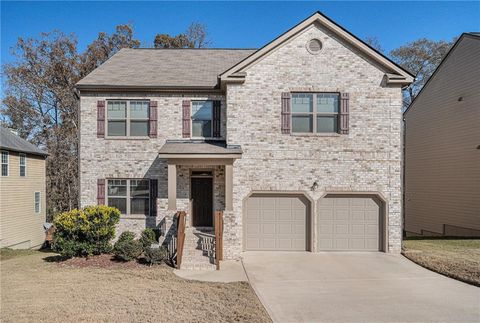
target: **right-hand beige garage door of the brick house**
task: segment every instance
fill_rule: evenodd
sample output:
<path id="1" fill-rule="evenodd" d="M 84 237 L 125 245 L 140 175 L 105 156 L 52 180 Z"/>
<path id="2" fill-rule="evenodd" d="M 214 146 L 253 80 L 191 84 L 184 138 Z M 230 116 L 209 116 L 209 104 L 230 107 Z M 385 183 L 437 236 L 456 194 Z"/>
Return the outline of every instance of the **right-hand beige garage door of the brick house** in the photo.
<path id="1" fill-rule="evenodd" d="M 381 203 L 374 197 L 325 197 L 318 210 L 318 250 L 381 249 Z"/>

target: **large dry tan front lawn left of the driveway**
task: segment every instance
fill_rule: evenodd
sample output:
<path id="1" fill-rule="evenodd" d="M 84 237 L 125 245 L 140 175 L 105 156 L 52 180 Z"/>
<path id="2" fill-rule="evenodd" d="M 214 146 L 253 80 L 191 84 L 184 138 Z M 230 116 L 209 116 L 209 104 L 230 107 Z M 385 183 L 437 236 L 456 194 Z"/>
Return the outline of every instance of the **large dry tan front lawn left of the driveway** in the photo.
<path id="1" fill-rule="evenodd" d="M 245 282 L 184 280 L 165 265 L 79 268 L 54 259 L 36 252 L 2 261 L 1 322 L 271 322 Z"/>

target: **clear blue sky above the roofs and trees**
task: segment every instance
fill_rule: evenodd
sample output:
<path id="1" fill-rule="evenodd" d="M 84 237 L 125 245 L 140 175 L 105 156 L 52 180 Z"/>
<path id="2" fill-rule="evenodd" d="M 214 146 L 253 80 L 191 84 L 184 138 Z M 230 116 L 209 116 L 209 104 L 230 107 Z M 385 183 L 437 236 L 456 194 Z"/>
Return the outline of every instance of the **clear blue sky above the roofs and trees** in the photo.
<path id="1" fill-rule="evenodd" d="M 376 36 L 389 52 L 427 37 L 447 39 L 480 31 L 480 1 L 474 2 L 23 2 L 1 1 L 1 60 L 10 62 L 18 37 L 59 29 L 74 33 L 80 50 L 98 32 L 132 23 L 142 46 L 156 33 L 183 32 L 192 21 L 207 25 L 212 47 L 257 48 L 315 11 L 360 38 Z"/>

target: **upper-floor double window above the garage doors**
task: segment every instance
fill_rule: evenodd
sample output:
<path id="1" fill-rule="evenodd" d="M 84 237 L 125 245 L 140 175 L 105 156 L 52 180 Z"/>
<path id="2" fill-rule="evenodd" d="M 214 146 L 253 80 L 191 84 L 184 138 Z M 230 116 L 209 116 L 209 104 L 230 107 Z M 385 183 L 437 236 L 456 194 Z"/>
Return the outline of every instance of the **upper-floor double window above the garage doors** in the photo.
<path id="1" fill-rule="evenodd" d="M 338 93 L 293 93 L 292 132 L 338 132 Z"/>

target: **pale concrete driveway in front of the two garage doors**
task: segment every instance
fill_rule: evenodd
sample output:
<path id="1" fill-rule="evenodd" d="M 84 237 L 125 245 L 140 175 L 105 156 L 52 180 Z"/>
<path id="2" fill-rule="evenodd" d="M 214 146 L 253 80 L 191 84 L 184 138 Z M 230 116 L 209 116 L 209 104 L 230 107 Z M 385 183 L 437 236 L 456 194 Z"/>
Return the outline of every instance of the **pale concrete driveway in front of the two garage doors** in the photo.
<path id="1" fill-rule="evenodd" d="M 275 322 L 480 322 L 480 288 L 384 253 L 246 252 Z"/>

